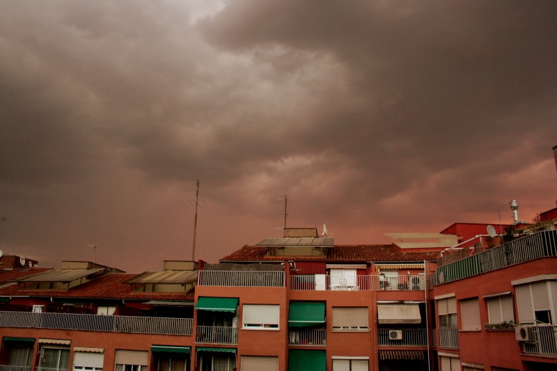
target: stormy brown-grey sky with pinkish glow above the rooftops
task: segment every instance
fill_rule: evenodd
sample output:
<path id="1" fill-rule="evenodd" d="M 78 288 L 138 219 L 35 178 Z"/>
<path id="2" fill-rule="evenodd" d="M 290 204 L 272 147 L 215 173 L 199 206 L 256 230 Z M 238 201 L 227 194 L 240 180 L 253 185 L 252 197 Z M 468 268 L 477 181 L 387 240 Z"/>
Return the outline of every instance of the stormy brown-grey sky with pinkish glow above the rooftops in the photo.
<path id="1" fill-rule="evenodd" d="M 555 1 L 0 0 L 0 248 L 126 271 L 556 205 Z M 2 219 L 3 220 L 3 219 Z"/>

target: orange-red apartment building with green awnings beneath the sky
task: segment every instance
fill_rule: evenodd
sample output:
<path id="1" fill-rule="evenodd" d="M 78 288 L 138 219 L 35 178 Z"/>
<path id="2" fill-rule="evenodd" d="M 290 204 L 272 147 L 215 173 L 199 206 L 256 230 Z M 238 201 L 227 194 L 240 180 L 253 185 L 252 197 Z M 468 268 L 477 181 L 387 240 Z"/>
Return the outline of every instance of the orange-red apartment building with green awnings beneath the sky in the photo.
<path id="1" fill-rule="evenodd" d="M 466 223 L 345 246 L 286 228 L 216 264 L 6 269 L 0 371 L 554 370 L 555 211 L 505 241 Z"/>

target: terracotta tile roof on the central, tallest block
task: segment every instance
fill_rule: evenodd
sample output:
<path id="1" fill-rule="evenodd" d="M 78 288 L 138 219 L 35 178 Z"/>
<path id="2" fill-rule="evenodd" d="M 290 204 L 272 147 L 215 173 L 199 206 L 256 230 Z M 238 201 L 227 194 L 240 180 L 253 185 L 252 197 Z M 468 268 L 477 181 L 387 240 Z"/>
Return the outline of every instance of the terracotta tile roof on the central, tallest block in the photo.
<path id="1" fill-rule="evenodd" d="M 437 260 L 437 251 L 402 251 L 394 244 L 336 245 L 327 248 L 327 256 L 272 256 L 267 247 L 246 245 L 221 259 L 221 262 L 262 262 L 296 260 L 299 262 L 417 262 Z"/>

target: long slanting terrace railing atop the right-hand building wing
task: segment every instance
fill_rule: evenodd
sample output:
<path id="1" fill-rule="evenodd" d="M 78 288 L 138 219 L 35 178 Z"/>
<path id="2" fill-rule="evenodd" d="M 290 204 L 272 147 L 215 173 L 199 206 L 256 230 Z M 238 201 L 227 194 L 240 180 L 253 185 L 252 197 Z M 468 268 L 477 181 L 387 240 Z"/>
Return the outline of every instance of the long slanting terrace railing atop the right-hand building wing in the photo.
<path id="1" fill-rule="evenodd" d="M 437 267 L 437 284 L 476 276 L 531 260 L 557 256 L 557 230 L 544 230 Z"/>

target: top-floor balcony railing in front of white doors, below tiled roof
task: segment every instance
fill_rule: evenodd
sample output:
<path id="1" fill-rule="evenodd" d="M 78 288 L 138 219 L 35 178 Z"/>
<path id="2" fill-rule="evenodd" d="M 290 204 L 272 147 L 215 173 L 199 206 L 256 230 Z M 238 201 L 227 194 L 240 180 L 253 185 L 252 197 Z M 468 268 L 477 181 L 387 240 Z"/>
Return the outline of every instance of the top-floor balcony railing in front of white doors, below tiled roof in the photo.
<path id="1" fill-rule="evenodd" d="M 331 290 L 331 291 L 379 291 L 379 290 L 424 290 L 425 276 L 401 274 L 387 277 L 370 276 L 328 276 L 325 274 L 297 274 L 290 276 L 290 290 Z"/>

